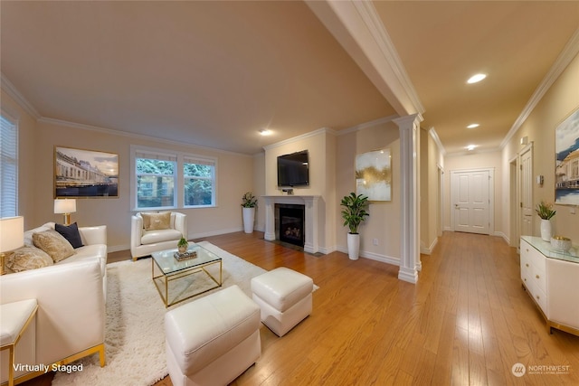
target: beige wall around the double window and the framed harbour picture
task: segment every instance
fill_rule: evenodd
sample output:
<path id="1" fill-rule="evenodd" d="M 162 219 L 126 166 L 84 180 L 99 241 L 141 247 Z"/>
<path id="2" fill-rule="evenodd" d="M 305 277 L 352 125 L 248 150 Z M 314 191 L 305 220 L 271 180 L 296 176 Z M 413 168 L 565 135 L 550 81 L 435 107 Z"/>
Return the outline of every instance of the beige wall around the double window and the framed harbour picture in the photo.
<path id="1" fill-rule="evenodd" d="M 5 103 L 3 100 L 3 106 Z M 26 122 L 20 129 L 21 146 L 29 146 L 20 151 L 19 206 L 26 229 L 46 221 L 62 221 L 62 215 L 53 213 L 54 146 L 116 153 L 119 154 L 119 198 L 79 199 L 71 221 L 81 226 L 106 224 L 109 250 L 128 249 L 130 216 L 134 213 L 130 200 L 130 146 L 140 145 L 217 159 L 217 206 L 176 209 L 187 214 L 190 239 L 242 230 L 242 194 L 252 191 L 254 184 L 252 156 L 145 137 L 119 136 L 109 130 L 65 126 L 46 120 Z"/>

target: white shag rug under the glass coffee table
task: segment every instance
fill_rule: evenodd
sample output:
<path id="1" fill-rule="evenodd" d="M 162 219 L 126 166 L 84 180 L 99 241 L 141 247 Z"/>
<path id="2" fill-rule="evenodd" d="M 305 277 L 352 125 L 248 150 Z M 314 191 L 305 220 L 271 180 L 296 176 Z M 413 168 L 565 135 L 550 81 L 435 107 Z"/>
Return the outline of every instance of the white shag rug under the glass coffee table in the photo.
<path id="1" fill-rule="evenodd" d="M 251 279 L 266 272 L 207 241 L 199 242 L 223 259 L 223 286 L 193 297 L 193 301 L 234 284 L 252 297 Z M 216 266 L 218 269 L 218 265 Z M 195 274 L 195 278 L 199 274 Z M 151 259 L 111 263 L 107 266 L 107 322 L 105 355 L 107 364 L 100 367 L 98 355 L 82 363 L 81 372 L 57 372 L 54 386 L 123 385 L 147 386 L 163 379 L 166 369 L 164 317 L 167 310 L 151 279 Z M 178 282 L 179 280 L 177 280 Z M 170 297 L 171 298 L 171 297 Z"/>

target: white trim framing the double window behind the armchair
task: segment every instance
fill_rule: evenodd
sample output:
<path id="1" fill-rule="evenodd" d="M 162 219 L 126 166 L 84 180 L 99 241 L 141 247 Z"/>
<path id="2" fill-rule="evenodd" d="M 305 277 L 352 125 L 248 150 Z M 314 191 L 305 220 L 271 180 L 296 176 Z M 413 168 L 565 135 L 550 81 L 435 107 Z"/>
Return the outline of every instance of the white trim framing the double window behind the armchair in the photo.
<path id="1" fill-rule="evenodd" d="M 137 154 L 138 153 L 151 153 L 157 155 L 166 155 L 170 157 L 176 157 L 176 186 L 175 186 L 175 195 L 176 195 L 176 205 L 168 207 L 161 207 L 161 208 L 138 208 L 137 207 Z M 191 163 L 191 161 L 205 161 L 209 163 L 213 163 L 214 165 L 214 189 L 213 189 L 213 197 L 212 201 L 213 204 L 210 205 L 187 205 L 185 206 L 185 176 L 183 174 L 183 165 L 185 164 L 185 159 Z M 131 145 L 130 146 L 130 205 L 133 212 L 142 212 L 142 211 L 158 211 L 158 210 L 171 210 L 171 209 L 201 209 L 201 208 L 214 208 L 217 206 L 217 175 L 218 174 L 218 164 L 217 158 L 212 156 L 206 155 L 195 155 L 192 153 L 185 153 L 179 151 L 171 151 L 167 149 L 161 149 L 156 147 L 147 147 L 147 146 L 138 146 L 138 145 Z"/>

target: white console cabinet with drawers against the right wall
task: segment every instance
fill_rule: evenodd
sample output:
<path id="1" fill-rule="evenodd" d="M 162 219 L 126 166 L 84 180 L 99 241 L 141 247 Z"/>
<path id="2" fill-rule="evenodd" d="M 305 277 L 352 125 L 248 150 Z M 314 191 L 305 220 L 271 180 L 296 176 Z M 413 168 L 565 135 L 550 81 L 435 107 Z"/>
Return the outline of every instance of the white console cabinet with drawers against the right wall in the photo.
<path id="1" fill-rule="evenodd" d="M 579 248 L 562 253 L 539 237 L 522 236 L 521 280 L 546 326 L 579 335 Z"/>

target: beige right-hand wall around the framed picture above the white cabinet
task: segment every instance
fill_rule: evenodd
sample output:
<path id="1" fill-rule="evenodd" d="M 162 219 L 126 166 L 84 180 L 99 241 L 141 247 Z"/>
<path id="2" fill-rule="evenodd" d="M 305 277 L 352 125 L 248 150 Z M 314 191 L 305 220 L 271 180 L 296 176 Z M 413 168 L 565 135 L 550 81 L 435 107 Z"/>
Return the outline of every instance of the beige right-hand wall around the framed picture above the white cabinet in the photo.
<path id="1" fill-rule="evenodd" d="M 527 120 L 510 138 L 503 150 L 502 163 L 508 170 L 509 160 L 520 151 L 520 138 L 528 137 L 533 142 L 533 175 L 544 175 L 543 186 L 534 184 L 534 206 L 542 200 L 555 202 L 555 127 L 579 108 L 579 55 L 567 66 L 543 99 L 536 105 Z M 579 208 L 555 205 L 557 211 L 552 219 L 555 233 L 571 238 L 574 244 L 579 241 Z M 575 214 L 572 214 L 572 211 Z M 507 211 L 505 211 L 507 212 Z M 509 223 L 508 213 L 503 222 Z M 509 227 L 512 228 L 512 227 Z M 534 235 L 538 236 L 539 221 L 534 218 Z"/>

